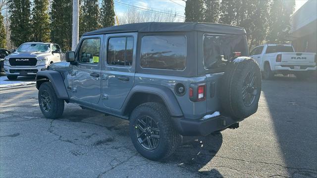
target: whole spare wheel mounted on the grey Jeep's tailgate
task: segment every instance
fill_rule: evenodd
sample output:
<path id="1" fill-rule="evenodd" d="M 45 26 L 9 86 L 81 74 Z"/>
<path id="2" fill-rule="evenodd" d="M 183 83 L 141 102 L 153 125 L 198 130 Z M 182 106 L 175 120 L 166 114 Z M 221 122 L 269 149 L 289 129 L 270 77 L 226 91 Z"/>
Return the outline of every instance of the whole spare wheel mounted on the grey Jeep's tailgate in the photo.
<path id="1" fill-rule="evenodd" d="M 224 114 L 244 119 L 258 110 L 261 94 L 261 72 L 258 63 L 250 58 L 229 63 L 221 88 Z"/>

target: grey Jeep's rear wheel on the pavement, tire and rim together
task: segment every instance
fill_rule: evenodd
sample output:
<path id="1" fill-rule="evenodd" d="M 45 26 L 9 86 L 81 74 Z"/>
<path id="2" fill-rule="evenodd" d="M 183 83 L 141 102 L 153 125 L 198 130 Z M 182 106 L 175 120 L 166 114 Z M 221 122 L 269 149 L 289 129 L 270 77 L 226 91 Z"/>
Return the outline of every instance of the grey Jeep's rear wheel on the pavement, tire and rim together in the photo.
<path id="1" fill-rule="evenodd" d="M 132 111 L 130 136 L 138 152 L 153 161 L 172 155 L 179 141 L 168 111 L 156 102 L 141 104 Z"/>

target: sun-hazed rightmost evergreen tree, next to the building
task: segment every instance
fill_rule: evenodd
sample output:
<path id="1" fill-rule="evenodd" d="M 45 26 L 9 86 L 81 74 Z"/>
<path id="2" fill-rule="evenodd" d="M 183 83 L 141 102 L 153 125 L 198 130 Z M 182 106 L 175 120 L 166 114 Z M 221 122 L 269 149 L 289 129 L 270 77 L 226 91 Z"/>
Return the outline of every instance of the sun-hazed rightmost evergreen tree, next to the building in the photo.
<path id="1" fill-rule="evenodd" d="M 290 25 L 290 15 L 294 12 L 295 0 L 273 0 L 270 4 L 268 30 L 266 40 L 273 44 L 282 44 L 288 35 L 283 32 Z"/>

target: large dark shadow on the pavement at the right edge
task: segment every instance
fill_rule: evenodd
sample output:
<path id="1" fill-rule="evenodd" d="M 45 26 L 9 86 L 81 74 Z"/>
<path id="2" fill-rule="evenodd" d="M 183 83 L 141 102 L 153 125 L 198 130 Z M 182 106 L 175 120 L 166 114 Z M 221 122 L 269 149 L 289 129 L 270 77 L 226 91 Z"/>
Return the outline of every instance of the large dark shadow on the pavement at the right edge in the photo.
<path id="1" fill-rule="evenodd" d="M 260 101 L 269 110 L 267 122 L 275 131 L 284 160 L 281 166 L 290 177 L 317 177 L 316 80 L 274 77 L 263 83 Z"/>

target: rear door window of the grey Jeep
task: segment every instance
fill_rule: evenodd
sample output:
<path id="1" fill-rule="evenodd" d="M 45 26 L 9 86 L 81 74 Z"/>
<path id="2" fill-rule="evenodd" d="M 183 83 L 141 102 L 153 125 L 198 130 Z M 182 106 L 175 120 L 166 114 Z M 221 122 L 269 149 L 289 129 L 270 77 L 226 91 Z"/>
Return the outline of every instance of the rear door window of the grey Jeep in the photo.
<path id="1" fill-rule="evenodd" d="M 112 37 L 108 40 L 107 63 L 109 65 L 131 66 L 133 37 Z"/>

